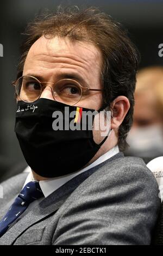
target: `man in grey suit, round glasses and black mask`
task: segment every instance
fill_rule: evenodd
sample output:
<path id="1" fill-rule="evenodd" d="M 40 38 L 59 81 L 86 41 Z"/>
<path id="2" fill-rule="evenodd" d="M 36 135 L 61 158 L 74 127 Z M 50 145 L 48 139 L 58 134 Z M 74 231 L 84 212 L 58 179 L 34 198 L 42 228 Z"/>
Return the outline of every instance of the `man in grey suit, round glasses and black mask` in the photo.
<path id="1" fill-rule="evenodd" d="M 0 244 L 150 244 L 158 186 L 141 159 L 119 151 L 132 122 L 137 70 L 126 32 L 89 8 L 59 9 L 27 34 L 14 83 L 15 131 L 32 171 L 1 184 Z M 76 113 L 68 124 L 77 127 L 84 111 L 109 109 L 111 131 L 57 130 L 54 115 L 67 121 L 65 109 Z"/>

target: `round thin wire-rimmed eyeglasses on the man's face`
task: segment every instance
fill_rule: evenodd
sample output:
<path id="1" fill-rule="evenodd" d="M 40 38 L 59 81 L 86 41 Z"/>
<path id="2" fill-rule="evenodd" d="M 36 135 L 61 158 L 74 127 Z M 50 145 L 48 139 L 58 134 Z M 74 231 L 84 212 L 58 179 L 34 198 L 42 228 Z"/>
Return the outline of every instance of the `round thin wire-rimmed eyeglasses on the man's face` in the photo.
<path id="1" fill-rule="evenodd" d="M 102 91 L 101 89 L 90 89 L 81 86 L 77 81 L 72 79 L 62 79 L 57 83 L 40 82 L 33 76 L 21 76 L 15 83 L 16 94 L 20 100 L 25 102 L 34 102 L 39 99 L 43 92 L 43 88 L 47 84 L 52 90 L 54 100 L 65 103 L 67 105 L 75 105 L 82 97 L 82 94 L 87 91 Z M 46 84 L 45 86 L 43 84 Z"/>

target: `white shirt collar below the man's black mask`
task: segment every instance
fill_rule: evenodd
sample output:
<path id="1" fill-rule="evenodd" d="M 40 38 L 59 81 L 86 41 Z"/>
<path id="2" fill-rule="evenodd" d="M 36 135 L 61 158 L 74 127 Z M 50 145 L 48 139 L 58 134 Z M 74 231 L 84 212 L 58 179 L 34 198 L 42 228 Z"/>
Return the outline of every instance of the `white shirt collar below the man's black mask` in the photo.
<path id="1" fill-rule="evenodd" d="M 89 170 L 90 168 L 95 167 L 98 164 L 108 160 L 109 158 L 111 158 L 112 156 L 116 155 L 119 152 L 120 152 L 120 150 L 118 148 L 118 145 L 116 145 L 114 148 L 110 149 L 104 155 L 100 156 L 95 162 L 91 163 L 89 166 L 86 166 L 82 170 L 79 170 L 78 172 L 39 181 L 39 184 L 40 184 L 40 187 L 41 187 L 41 190 L 42 190 L 44 196 L 48 197 L 49 194 L 53 193 L 59 187 L 64 185 L 67 181 L 71 180 L 72 178 L 79 175 L 80 173 L 83 173 L 86 170 Z M 24 170 L 24 172 L 29 172 L 27 179 L 24 183 L 24 186 L 25 186 L 28 182 L 34 181 L 34 177 L 33 177 L 32 170 L 30 169 L 30 167 L 27 167 Z"/>

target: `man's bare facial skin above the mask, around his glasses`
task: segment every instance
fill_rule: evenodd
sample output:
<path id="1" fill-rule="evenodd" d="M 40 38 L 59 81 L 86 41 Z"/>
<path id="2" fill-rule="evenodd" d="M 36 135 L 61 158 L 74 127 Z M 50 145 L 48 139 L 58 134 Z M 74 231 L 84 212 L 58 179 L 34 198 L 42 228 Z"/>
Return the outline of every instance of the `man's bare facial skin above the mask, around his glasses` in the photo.
<path id="1" fill-rule="evenodd" d="M 101 52 L 92 44 L 42 36 L 28 52 L 23 76 L 34 76 L 40 82 L 51 83 L 64 76 L 83 87 L 102 89 L 101 66 Z M 54 100 L 51 88 L 47 86 L 41 97 Z M 76 105 L 97 110 L 102 107 L 102 92 L 88 91 Z"/>

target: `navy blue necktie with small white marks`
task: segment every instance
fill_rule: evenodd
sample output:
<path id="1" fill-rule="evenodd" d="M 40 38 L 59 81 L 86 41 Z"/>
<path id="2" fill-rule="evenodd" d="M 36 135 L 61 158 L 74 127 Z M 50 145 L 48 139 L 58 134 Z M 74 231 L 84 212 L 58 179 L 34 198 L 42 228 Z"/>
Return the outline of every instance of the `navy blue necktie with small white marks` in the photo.
<path id="1" fill-rule="evenodd" d="M 43 197 L 39 182 L 30 181 L 20 194 L 18 194 L 14 203 L 10 206 L 7 214 L 0 222 L 0 237 L 8 230 L 10 225 L 28 208 L 34 200 Z"/>

